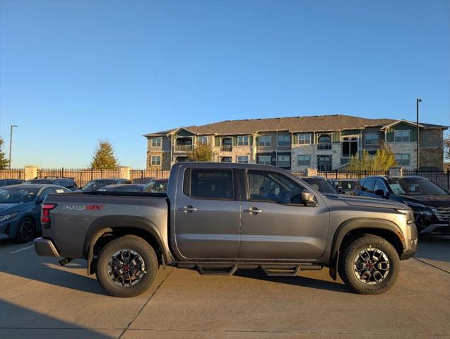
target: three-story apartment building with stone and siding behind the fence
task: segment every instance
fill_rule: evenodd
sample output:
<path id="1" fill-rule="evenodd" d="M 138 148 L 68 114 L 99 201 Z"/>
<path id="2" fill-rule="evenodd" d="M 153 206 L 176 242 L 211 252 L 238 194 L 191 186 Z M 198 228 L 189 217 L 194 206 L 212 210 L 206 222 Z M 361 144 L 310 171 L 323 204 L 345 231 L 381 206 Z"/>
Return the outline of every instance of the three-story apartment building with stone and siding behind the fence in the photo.
<path id="1" fill-rule="evenodd" d="M 170 169 L 188 160 L 197 145 L 211 147 L 215 162 L 274 165 L 300 172 L 306 168 L 345 167 L 362 150 L 375 154 L 381 143 L 391 147 L 398 165 L 442 168 L 446 126 L 348 115 L 227 120 L 148 133 L 147 167 Z"/>

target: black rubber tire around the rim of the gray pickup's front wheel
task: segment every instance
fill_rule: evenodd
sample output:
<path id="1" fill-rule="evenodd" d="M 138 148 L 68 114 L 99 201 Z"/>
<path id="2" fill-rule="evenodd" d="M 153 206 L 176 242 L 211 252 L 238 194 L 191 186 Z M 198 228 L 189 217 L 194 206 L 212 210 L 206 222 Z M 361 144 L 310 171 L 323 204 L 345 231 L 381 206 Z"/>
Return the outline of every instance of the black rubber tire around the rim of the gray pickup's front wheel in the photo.
<path id="1" fill-rule="evenodd" d="M 389 260 L 389 272 L 384 280 L 379 283 L 369 285 L 357 278 L 355 273 L 355 259 L 360 251 L 365 249 L 379 249 Z M 338 262 L 338 273 L 343 282 L 350 287 L 353 292 L 360 295 L 379 295 L 391 289 L 396 283 L 400 270 L 400 258 L 396 249 L 386 239 L 374 234 L 361 234 L 359 237 L 344 244 L 341 249 L 341 256 Z"/>

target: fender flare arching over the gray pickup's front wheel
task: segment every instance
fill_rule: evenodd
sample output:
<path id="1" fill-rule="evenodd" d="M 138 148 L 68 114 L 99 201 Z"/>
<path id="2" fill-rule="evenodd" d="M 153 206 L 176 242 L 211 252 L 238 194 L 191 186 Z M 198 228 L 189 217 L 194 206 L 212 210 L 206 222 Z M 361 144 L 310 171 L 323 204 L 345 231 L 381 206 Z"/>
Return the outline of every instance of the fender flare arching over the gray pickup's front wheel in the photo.
<path id="1" fill-rule="evenodd" d="M 341 248 L 342 241 L 345 234 L 348 234 L 348 232 L 353 230 L 384 230 L 391 232 L 396 239 L 401 242 L 403 249 L 406 248 L 405 239 L 403 238 L 403 233 L 401 232 L 400 227 L 398 227 L 398 225 L 391 220 L 379 218 L 354 218 L 345 220 L 334 232 L 333 242 L 331 242 L 329 267 L 331 278 L 334 280 L 336 280 L 337 277 L 338 258 L 340 255 L 339 249 Z"/>

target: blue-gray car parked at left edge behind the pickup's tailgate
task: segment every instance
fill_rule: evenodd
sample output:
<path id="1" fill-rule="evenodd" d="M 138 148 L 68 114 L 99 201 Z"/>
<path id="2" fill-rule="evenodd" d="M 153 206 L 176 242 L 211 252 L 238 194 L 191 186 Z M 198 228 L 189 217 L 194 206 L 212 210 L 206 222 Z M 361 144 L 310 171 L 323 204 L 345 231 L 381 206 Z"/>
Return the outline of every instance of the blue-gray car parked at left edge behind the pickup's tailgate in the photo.
<path id="1" fill-rule="evenodd" d="M 62 186 L 19 184 L 0 188 L 0 239 L 29 242 L 41 230 L 41 205 L 48 194 L 70 192 Z"/>

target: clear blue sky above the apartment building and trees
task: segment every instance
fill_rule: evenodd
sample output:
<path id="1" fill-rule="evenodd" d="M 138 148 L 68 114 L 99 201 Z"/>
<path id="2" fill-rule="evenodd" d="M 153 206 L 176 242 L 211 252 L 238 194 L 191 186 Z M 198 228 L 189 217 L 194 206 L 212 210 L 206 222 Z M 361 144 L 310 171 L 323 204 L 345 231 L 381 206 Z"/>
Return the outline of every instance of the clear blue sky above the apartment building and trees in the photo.
<path id="1" fill-rule="evenodd" d="M 145 167 L 144 133 L 350 114 L 450 124 L 450 1 L 0 1 L 13 166 Z"/>

